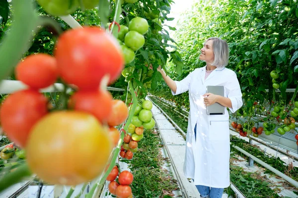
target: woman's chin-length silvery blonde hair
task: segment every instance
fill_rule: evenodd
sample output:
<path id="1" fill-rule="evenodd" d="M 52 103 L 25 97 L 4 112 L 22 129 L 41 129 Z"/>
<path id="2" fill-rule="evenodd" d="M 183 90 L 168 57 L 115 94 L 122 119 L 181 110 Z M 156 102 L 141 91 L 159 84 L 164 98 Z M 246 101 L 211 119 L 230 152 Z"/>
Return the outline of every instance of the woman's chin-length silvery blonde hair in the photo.
<path id="1" fill-rule="evenodd" d="M 205 41 L 213 41 L 213 53 L 214 53 L 214 61 L 211 65 L 216 67 L 225 67 L 228 63 L 228 46 L 226 41 L 217 37 L 211 37 Z"/>

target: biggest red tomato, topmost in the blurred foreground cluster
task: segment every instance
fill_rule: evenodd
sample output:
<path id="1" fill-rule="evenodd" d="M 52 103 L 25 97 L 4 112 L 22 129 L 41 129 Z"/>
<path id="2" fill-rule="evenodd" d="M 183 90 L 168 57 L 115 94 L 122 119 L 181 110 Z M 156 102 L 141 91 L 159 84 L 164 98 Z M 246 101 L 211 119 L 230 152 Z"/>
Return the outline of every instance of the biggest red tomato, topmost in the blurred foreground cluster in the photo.
<path id="1" fill-rule="evenodd" d="M 54 54 L 62 79 L 80 89 L 98 89 L 106 75 L 112 83 L 124 67 L 119 43 L 98 27 L 64 32 L 58 39 Z"/>

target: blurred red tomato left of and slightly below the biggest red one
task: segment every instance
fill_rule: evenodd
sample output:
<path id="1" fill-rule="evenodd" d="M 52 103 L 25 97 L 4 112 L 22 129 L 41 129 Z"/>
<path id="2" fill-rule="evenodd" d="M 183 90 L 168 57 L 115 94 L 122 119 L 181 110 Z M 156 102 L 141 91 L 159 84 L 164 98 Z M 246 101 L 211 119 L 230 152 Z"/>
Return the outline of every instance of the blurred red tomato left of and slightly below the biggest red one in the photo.
<path id="1" fill-rule="evenodd" d="M 49 87 L 56 82 L 58 77 L 56 58 L 44 53 L 31 54 L 18 63 L 15 75 L 16 79 L 31 88 Z"/>

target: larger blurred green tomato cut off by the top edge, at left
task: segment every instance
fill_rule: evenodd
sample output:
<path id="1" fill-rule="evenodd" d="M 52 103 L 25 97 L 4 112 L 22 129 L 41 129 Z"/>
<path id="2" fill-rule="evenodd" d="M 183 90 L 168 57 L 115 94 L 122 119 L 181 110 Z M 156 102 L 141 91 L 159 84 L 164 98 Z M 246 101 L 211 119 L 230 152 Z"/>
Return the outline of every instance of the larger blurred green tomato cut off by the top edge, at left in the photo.
<path id="1" fill-rule="evenodd" d="M 78 7 L 77 0 L 37 0 L 46 12 L 53 16 L 72 14 Z"/>

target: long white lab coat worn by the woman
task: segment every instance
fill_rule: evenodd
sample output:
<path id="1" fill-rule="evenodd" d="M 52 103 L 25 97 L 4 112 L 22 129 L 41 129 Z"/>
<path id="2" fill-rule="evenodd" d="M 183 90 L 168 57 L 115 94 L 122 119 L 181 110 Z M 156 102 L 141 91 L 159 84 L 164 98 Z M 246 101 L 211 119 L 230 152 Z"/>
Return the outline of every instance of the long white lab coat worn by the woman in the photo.
<path id="1" fill-rule="evenodd" d="M 189 91 L 190 112 L 186 135 L 184 175 L 195 185 L 213 188 L 229 186 L 229 115 L 207 115 L 203 95 L 206 86 L 224 86 L 224 97 L 231 100 L 231 112 L 242 106 L 242 94 L 235 72 L 216 68 L 205 80 L 206 66 L 197 68 L 181 81 L 175 81 L 173 95 Z M 197 123 L 195 141 L 194 128 Z"/>

